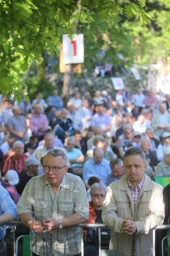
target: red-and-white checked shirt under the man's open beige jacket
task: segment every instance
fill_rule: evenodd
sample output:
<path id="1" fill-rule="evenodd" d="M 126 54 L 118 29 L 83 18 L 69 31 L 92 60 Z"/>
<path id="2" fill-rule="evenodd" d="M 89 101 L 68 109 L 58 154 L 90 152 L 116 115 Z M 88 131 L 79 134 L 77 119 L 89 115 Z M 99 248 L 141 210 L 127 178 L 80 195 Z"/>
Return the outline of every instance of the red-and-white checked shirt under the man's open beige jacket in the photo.
<path id="1" fill-rule="evenodd" d="M 141 182 L 135 188 L 133 188 L 133 186 L 130 184 L 130 181 L 128 180 L 128 185 L 129 185 L 129 188 L 130 188 L 130 193 L 131 193 L 131 196 L 133 198 L 134 209 L 136 208 L 137 198 L 138 198 L 139 192 L 140 192 L 140 190 L 141 190 L 141 188 L 143 186 L 143 182 L 144 182 L 144 176 L 143 176 L 143 179 L 141 180 Z M 135 256 L 134 237 L 133 237 L 133 248 L 132 248 L 131 256 Z"/>

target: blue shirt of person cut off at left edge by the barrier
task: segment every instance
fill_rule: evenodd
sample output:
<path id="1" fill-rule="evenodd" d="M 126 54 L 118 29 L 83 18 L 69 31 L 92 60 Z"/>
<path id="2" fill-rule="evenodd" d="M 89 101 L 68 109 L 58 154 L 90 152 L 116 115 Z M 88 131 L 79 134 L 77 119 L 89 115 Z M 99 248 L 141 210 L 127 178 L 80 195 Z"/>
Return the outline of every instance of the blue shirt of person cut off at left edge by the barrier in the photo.
<path id="1" fill-rule="evenodd" d="M 0 215 L 3 213 L 11 213 L 16 220 L 19 220 L 17 214 L 17 208 L 11 199 L 8 191 L 0 185 Z M 0 226 L 0 240 L 5 236 L 6 233 L 6 225 L 3 224 Z"/>

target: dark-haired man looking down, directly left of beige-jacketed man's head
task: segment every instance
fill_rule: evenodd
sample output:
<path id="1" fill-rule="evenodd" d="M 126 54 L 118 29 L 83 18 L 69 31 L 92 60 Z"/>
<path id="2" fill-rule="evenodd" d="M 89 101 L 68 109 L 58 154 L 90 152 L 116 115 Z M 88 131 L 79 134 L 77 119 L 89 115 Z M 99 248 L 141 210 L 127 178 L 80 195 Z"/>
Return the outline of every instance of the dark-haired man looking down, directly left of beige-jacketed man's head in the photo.
<path id="1" fill-rule="evenodd" d="M 125 174 L 125 168 L 123 165 L 123 161 L 120 158 L 110 161 L 110 168 L 112 173 L 108 175 L 107 186 L 112 182 L 119 180 Z"/>

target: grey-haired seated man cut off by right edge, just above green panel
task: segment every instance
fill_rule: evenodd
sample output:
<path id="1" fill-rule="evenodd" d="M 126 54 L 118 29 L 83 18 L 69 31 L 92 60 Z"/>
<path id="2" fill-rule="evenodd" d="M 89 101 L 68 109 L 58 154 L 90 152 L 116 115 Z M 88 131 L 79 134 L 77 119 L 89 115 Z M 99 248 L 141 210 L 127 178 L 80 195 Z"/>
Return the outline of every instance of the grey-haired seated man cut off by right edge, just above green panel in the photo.
<path id="1" fill-rule="evenodd" d="M 163 160 L 156 166 L 155 169 L 156 176 L 170 176 L 170 148 L 165 148 L 163 154 Z"/>

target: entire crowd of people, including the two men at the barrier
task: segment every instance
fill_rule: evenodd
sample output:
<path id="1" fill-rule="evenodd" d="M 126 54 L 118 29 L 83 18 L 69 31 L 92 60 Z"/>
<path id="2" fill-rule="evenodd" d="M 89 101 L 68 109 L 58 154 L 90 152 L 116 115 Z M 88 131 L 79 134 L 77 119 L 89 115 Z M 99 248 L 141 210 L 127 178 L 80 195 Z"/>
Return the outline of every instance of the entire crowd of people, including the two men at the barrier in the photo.
<path id="1" fill-rule="evenodd" d="M 106 90 L 92 97 L 90 92 L 81 96 L 75 87 L 67 107 L 56 89 L 47 100 L 38 93 L 32 103 L 23 99 L 18 104 L 2 97 L 0 165 L 0 188 L 9 192 L 23 224 L 39 234 L 33 236 L 33 255 L 55 255 L 56 250 L 64 255 L 62 227 L 68 228 L 67 255 L 81 255 L 81 233 L 72 226 L 85 221 L 101 223 L 102 219 L 115 228 L 110 249 L 116 248 L 115 232 L 121 233 L 121 240 L 130 234 L 127 245 L 120 248 L 121 255 L 134 255 L 133 234 L 141 233 L 141 246 L 143 234 L 150 237 L 152 228 L 164 220 L 162 188 L 154 180 L 155 176 L 170 176 L 170 95 L 143 88 L 132 94 L 125 88 L 115 98 Z M 138 171 L 133 174 L 135 168 Z M 128 196 L 123 195 L 128 190 Z M 138 191 L 136 196 L 133 190 Z M 146 205 L 148 195 L 154 201 L 158 194 L 161 210 L 151 201 L 145 210 L 132 205 Z M 167 224 L 170 207 L 164 201 Z M 128 205 L 125 213 L 123 208 Z M 9 221 L 18 220 L 18 215 L 12 213 Z M 0 218 L 0 225 L 4 223 Z M 84 229 L 85 255 L 97 256 L 97 246 L 88 244 L 87 233 Z M 4 234 L 0 232 L 0 243 Z M 146 246 L 145 254 L 151 251 Z"/>

